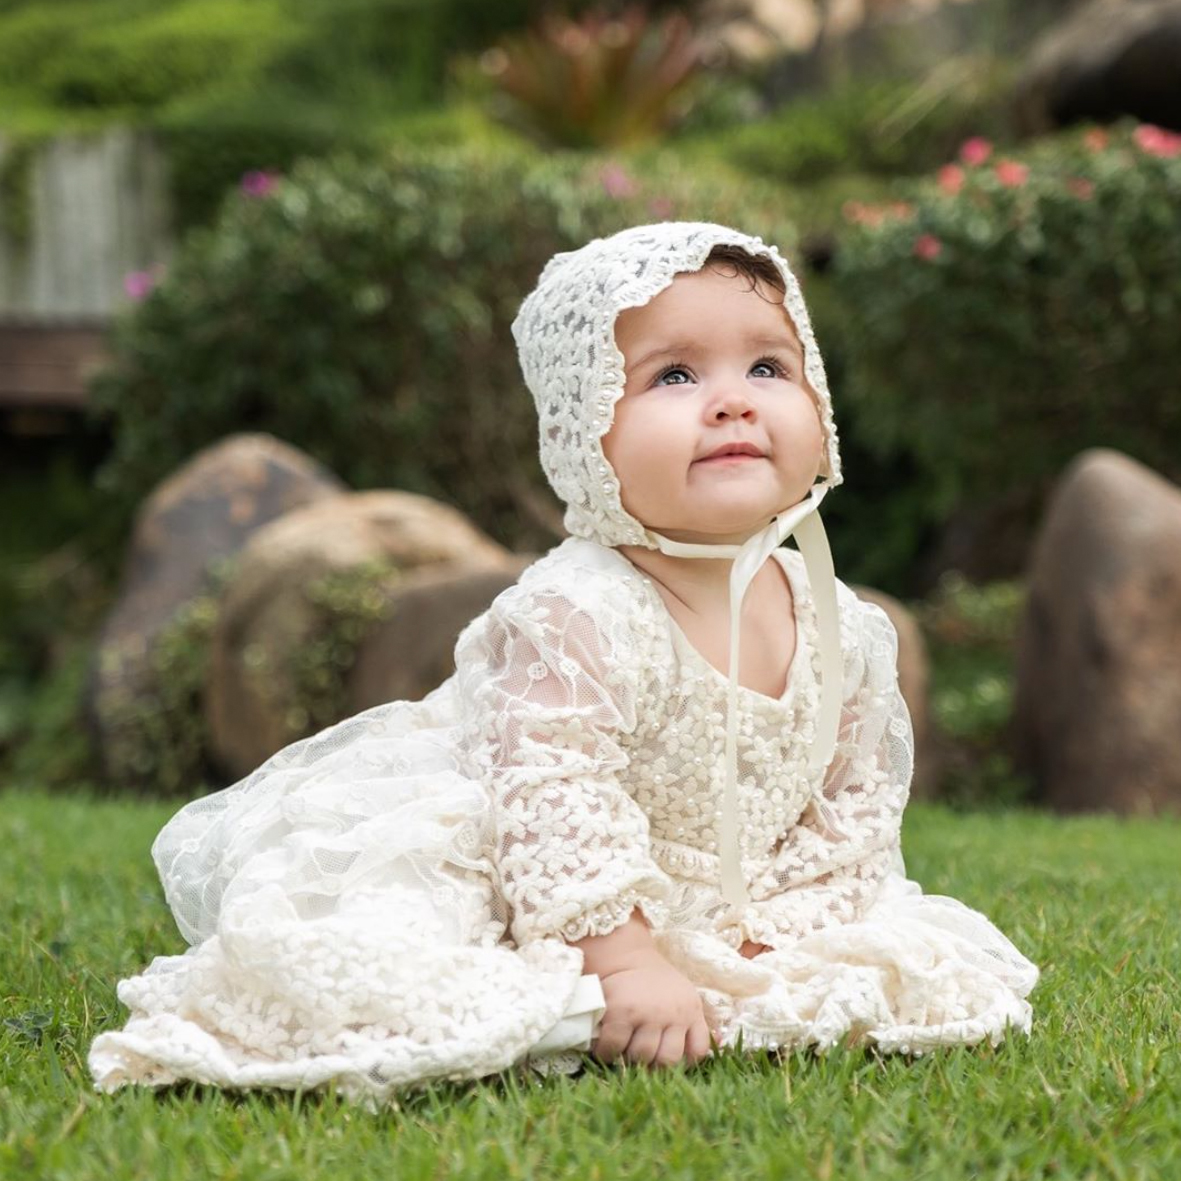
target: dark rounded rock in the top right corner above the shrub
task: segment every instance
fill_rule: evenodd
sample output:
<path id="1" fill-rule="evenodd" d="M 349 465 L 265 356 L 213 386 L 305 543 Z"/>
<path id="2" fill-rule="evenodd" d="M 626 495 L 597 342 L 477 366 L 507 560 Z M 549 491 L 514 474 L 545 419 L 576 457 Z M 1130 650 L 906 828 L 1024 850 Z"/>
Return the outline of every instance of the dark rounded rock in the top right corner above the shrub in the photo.
<path id="1" fill-rule="evenodd" d="M 1181 128 L 1181 0 L 1091 0 L 1035 43 L 1016 89 L 1030 133 L 1134 115 Z"/>

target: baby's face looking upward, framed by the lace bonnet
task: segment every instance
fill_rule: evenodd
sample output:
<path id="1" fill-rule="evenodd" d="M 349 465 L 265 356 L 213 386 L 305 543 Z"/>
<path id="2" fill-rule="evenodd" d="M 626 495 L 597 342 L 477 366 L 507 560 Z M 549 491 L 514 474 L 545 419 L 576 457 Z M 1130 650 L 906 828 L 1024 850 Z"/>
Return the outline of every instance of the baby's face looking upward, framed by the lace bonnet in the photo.
<path id="1" fill-rule="evenodd" d="M 676 541 L 737 542 L 808 494 L 823 456 L 783 296 L 712 267 L 615 320 L 627 380 L 602 449 L 624 508 Z M 709 458 L 724 444 L 758 455 Z"/>

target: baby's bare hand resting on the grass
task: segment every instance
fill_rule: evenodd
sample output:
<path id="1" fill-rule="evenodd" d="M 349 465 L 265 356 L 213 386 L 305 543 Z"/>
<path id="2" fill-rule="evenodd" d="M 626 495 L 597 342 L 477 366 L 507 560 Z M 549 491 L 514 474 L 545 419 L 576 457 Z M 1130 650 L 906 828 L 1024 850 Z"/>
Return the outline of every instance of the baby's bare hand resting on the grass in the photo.
<path id="1" fill-rule="evenodd" d="M 602 978 L 607 1012 L 590 1048 L 602 1062 L 671 1066 L 709 1057 L 710 1027 L 693 984 L 658 952 L 642 952 Z"/>

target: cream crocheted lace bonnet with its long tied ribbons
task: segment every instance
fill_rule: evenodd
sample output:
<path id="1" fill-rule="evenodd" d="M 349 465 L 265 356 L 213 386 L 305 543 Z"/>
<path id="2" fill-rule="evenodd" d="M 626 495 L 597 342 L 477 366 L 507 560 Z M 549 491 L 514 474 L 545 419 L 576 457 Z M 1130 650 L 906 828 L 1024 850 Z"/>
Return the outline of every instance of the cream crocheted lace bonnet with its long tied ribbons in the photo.
<path id="1" fill-rule="evenodd" d="M 683 272 L 699 270 L 715 246 L 738 246 L 769 257 L 783 278 L 784 311 L 803 348 L 804 376 L 816 397 L 824 431 L 822 479 L 808 496 L 742 546 L 687 544 L 652 531 L 622 504 L 619 481 L 602 451 L 615 403 L 624 396 L 624 355 L 615 344 L 616 315 L 640 307 Z M 822 771 L 833 756 L 841 709 L 841 652 L 833 561 L 815 511 L 841 483 L 833 406 L 824 365 L 813 335 L 800 283 L 775 246 L 711 222 L 659 222 L 595 239 L 555 254 L 521 305 L 513 337 L 526 384 L 537 405 L 541 463 L 566 504 L 565 524 L 576 537 L 600 544 L 642 546 L 677 557 L 732 557 L 730 576 L 730 693 L 726 716 L 726 791 L 719 833 L 723 894 L 749 901 L 742 874 L 737 823 L 738 627 L 742 601 L 759 567 L 795 534 L 816 603 L 822 668 L 821 710 L 810 765 Z"/>

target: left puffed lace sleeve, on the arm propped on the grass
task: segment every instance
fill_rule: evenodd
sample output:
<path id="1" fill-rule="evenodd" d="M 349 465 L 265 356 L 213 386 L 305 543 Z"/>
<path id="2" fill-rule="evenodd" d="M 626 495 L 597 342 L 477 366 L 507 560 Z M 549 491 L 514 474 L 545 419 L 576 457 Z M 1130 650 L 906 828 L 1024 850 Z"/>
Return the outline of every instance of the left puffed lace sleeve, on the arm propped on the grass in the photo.
<path id="1" fill-rule="evenodd" d="M 578 594 L 586 600 L 587 588 Z M 462 743 L 491 791 L 495 862 L 517 944 L 607 934 L 639 906 L 660 925 L 672 882 L 624 790 L 637 724 L 625 611 L 554 588 L 502 596 L 456 651 Z"/>

